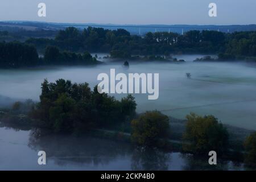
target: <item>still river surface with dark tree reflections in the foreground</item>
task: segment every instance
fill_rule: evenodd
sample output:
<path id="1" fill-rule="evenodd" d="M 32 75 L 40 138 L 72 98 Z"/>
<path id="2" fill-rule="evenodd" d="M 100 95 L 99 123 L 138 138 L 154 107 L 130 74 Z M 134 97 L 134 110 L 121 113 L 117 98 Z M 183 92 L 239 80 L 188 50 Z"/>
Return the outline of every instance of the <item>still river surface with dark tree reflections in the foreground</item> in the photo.
<path id="1" fill-rule="evenodd" d="M 232 162 L 209 166 L 179 152 L 134 148 L 129 143 L 94 137 L 45 135 L 40 130 L 0 127 L 1 170 L 241 170 Z M 39 166 L 38 151 L 46 151 L 47 165 Z M 218 160 L 219 161 L 219 160 Z"/>

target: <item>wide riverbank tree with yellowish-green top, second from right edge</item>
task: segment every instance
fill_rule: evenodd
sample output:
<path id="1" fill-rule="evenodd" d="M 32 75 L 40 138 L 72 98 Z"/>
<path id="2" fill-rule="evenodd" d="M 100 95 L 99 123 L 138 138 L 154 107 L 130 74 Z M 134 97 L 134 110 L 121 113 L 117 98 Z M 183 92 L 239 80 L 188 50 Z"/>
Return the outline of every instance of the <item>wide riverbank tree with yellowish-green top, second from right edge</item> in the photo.
<path id="1" fill-rule="evenodd" d="M 183 149 L 196 155 L 208 155 L 216 151 L 218 155 L 228 150 L 228 131 L 213 115 L 200 117 L 194 113 L 187 115 Z"/>

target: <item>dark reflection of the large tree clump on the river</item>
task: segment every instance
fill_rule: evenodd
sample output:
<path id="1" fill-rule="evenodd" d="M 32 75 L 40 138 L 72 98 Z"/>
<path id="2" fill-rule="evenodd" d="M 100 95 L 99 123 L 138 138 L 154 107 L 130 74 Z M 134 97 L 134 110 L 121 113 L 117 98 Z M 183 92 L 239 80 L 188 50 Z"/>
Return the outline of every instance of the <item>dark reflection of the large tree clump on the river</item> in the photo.
<path id="1" fill-rule="evenodd" d="M 131 153 L 130 145 L 112 140 L 70 135 L 42 134 L 31 131 L 28 146 L 35 151 L 46 151 L 48 159 L 62 166 L 69 163 L 108 166 L 112 160 Z"/>

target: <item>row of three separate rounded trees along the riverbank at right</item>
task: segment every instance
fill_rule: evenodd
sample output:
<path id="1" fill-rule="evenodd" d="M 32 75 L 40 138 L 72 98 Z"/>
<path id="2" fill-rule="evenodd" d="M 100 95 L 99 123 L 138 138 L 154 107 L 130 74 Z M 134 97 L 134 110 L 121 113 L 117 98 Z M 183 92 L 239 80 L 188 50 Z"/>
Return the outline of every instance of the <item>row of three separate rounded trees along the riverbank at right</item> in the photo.
<path id="1" fill-rule="evenodd" d="M 131 139 L 135 144 L 155 147 L 159 146 L 159 141 L 167 141 L 170 138 L 171 127 L 166 115 L 159 111 L 147 111 L 131 121 L 131 129 Z M 218 156 L 230 155 L 228 130 L 213 115 L 187 115 L 182 146 L 184 152 L 196 156 L 208 156 L 209 151 L 216 151 Z M 255 166 L 256 133 L 246 138 L 244 146 L 245 163 Z"/>

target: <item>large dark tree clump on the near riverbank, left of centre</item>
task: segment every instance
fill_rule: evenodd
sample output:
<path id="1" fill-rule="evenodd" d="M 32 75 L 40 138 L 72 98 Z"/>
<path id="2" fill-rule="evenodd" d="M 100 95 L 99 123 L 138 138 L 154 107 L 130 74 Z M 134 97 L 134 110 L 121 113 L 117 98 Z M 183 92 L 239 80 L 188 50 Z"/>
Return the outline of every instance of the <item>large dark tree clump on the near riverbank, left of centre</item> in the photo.
<path id="1" fill-rule="evenodd" d="M 44 80 L 40 102 L 30 116 L 39 127 L 56 133 L 82 133 L 126 122 L 134 117 L 136 106 L 131 95 L 119 101 L 106 93 L 98 93 L 97 86 L 91 90 L 87 83 Z"/>

